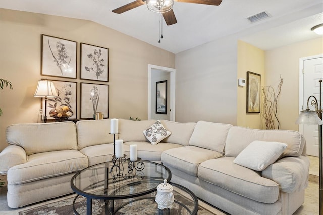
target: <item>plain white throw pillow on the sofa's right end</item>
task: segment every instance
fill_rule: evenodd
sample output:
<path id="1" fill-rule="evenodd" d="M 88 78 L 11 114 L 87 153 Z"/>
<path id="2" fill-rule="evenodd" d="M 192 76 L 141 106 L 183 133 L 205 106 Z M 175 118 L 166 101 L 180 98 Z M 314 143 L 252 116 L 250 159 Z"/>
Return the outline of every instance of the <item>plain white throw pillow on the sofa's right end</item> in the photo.
<path id="1" fill-rule="evenodd" d="M 262 171 L 276 162 L 286 148 L 285 143 L 255 140 L 243 149 L 233 162 L 252 170 Z"/>

